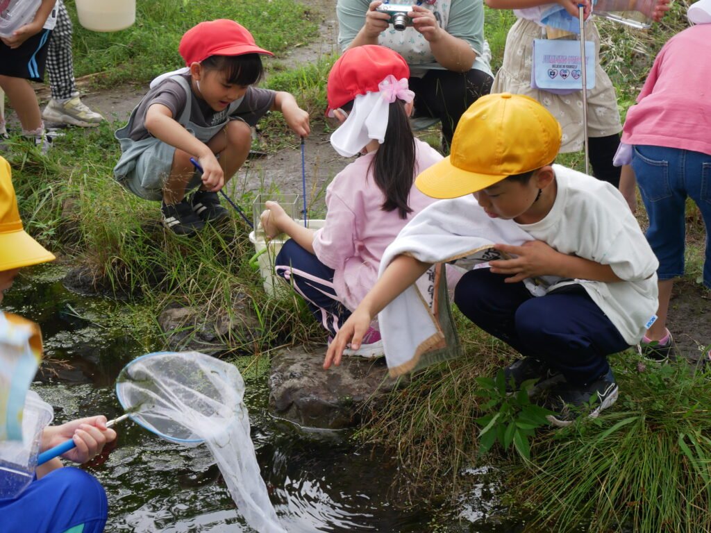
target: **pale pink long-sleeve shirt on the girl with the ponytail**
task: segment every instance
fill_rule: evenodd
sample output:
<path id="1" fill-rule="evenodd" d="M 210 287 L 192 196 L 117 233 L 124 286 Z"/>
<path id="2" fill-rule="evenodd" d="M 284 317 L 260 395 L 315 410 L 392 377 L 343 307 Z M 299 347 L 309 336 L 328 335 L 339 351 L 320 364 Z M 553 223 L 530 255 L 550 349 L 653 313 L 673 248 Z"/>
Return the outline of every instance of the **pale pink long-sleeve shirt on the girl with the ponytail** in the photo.
<path id="1" fill-rule="evenodd" d="M 427 143 L 415 142 L 417 176 L 442 156 Z M 378 280 L 385 248 L 412 217 L 437 201 L 420 193 L 413 182 L 408 201 L 412 212 L 407 219 L 401 219 L 397 210 L 381 210 L 385 195 L 370 171 L 374 156 L 372 152 L 359 157 L 333 178 L 326 189 L 326 222 L 314 236 L 316 257 L 334 270 L 336 294 L 351 311 Z"/>

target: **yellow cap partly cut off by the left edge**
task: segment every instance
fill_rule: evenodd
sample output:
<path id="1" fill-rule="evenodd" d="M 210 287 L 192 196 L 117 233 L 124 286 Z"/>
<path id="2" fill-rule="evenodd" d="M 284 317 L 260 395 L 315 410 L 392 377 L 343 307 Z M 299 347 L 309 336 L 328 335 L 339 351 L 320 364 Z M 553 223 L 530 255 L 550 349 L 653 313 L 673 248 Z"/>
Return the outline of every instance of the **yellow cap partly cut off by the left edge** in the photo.
<path id="1" fill-rule="evenodd" d="M 0 157 L 0 271 L 55 259 L 22 227 L 10 178 L 10 163 Z"/>

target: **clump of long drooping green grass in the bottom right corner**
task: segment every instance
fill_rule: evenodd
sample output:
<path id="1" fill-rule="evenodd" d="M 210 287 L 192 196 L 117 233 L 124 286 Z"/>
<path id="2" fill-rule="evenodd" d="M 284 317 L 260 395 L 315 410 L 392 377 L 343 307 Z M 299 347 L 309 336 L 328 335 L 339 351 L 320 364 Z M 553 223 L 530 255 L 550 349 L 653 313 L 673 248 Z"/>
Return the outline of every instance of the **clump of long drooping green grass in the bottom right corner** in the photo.
<path id="1" fill-rule="evenodd" d="M 513 467 L 515 497 L 556 531 L 581 517 L 593 531 L 709 531 L 710 376 L 629 354 L 614 365 L 626 392 L 614 412 L 542 434 L 535 461 Z"/>

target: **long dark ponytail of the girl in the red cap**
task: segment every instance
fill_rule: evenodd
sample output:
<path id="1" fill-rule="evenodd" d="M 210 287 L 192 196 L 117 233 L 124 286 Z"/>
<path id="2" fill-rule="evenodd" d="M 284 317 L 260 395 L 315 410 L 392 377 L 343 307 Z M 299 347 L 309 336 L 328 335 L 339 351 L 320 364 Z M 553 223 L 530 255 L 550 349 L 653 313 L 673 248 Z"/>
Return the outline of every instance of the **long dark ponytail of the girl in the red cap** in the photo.
<path id="1" fill-rule="evenodd" d="M 412 212 L 407 200 L 415 181 L 415 134 L 405 112 L 405 102 L 396 99 L 390 104 L 385 139 L 373 158 L 375 185 L 383 191 L 385 202 L 380 209 L 397 209 L 401 219 Z"/>

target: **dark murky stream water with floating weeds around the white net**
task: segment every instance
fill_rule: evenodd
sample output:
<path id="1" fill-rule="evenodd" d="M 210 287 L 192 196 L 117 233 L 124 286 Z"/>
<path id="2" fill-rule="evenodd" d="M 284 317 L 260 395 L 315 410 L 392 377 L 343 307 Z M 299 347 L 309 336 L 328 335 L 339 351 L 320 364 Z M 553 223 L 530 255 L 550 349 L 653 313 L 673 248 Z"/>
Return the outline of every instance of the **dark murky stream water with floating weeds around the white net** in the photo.
<path id="1" fill-rule="evenodd" d="M 55 407 L 55 422 L 77 416 L 122 414 L 113 383 L 123 365 L 159 339 L 137 343 L 102 317 L 125 312 L 121 303 L 66 291 L 61 271 L 38 269 L 16 281 L 7 311 L 41 324 L 47 356 L 68 363 L 41 375 L 35 389 Z M 98 325 L 97 325 L 98 324 Z M 262 476 L 289 532 L 513 532 L 518 524 L 484 518 L 494 507 L 485 472 L 456 505 L 405 502 L 391 491 L 397 464 L 378 449 L 360 449 L 348 434 L 306 432 L 274 421 L 266 377 L 247 378 L 245 402 Z M 238 515 L 204 446 L 161 441 L 131 422 L 117 428 L 115 448 L 89 467 L 109 498 L 107 532 L 250 532 Z"/>

